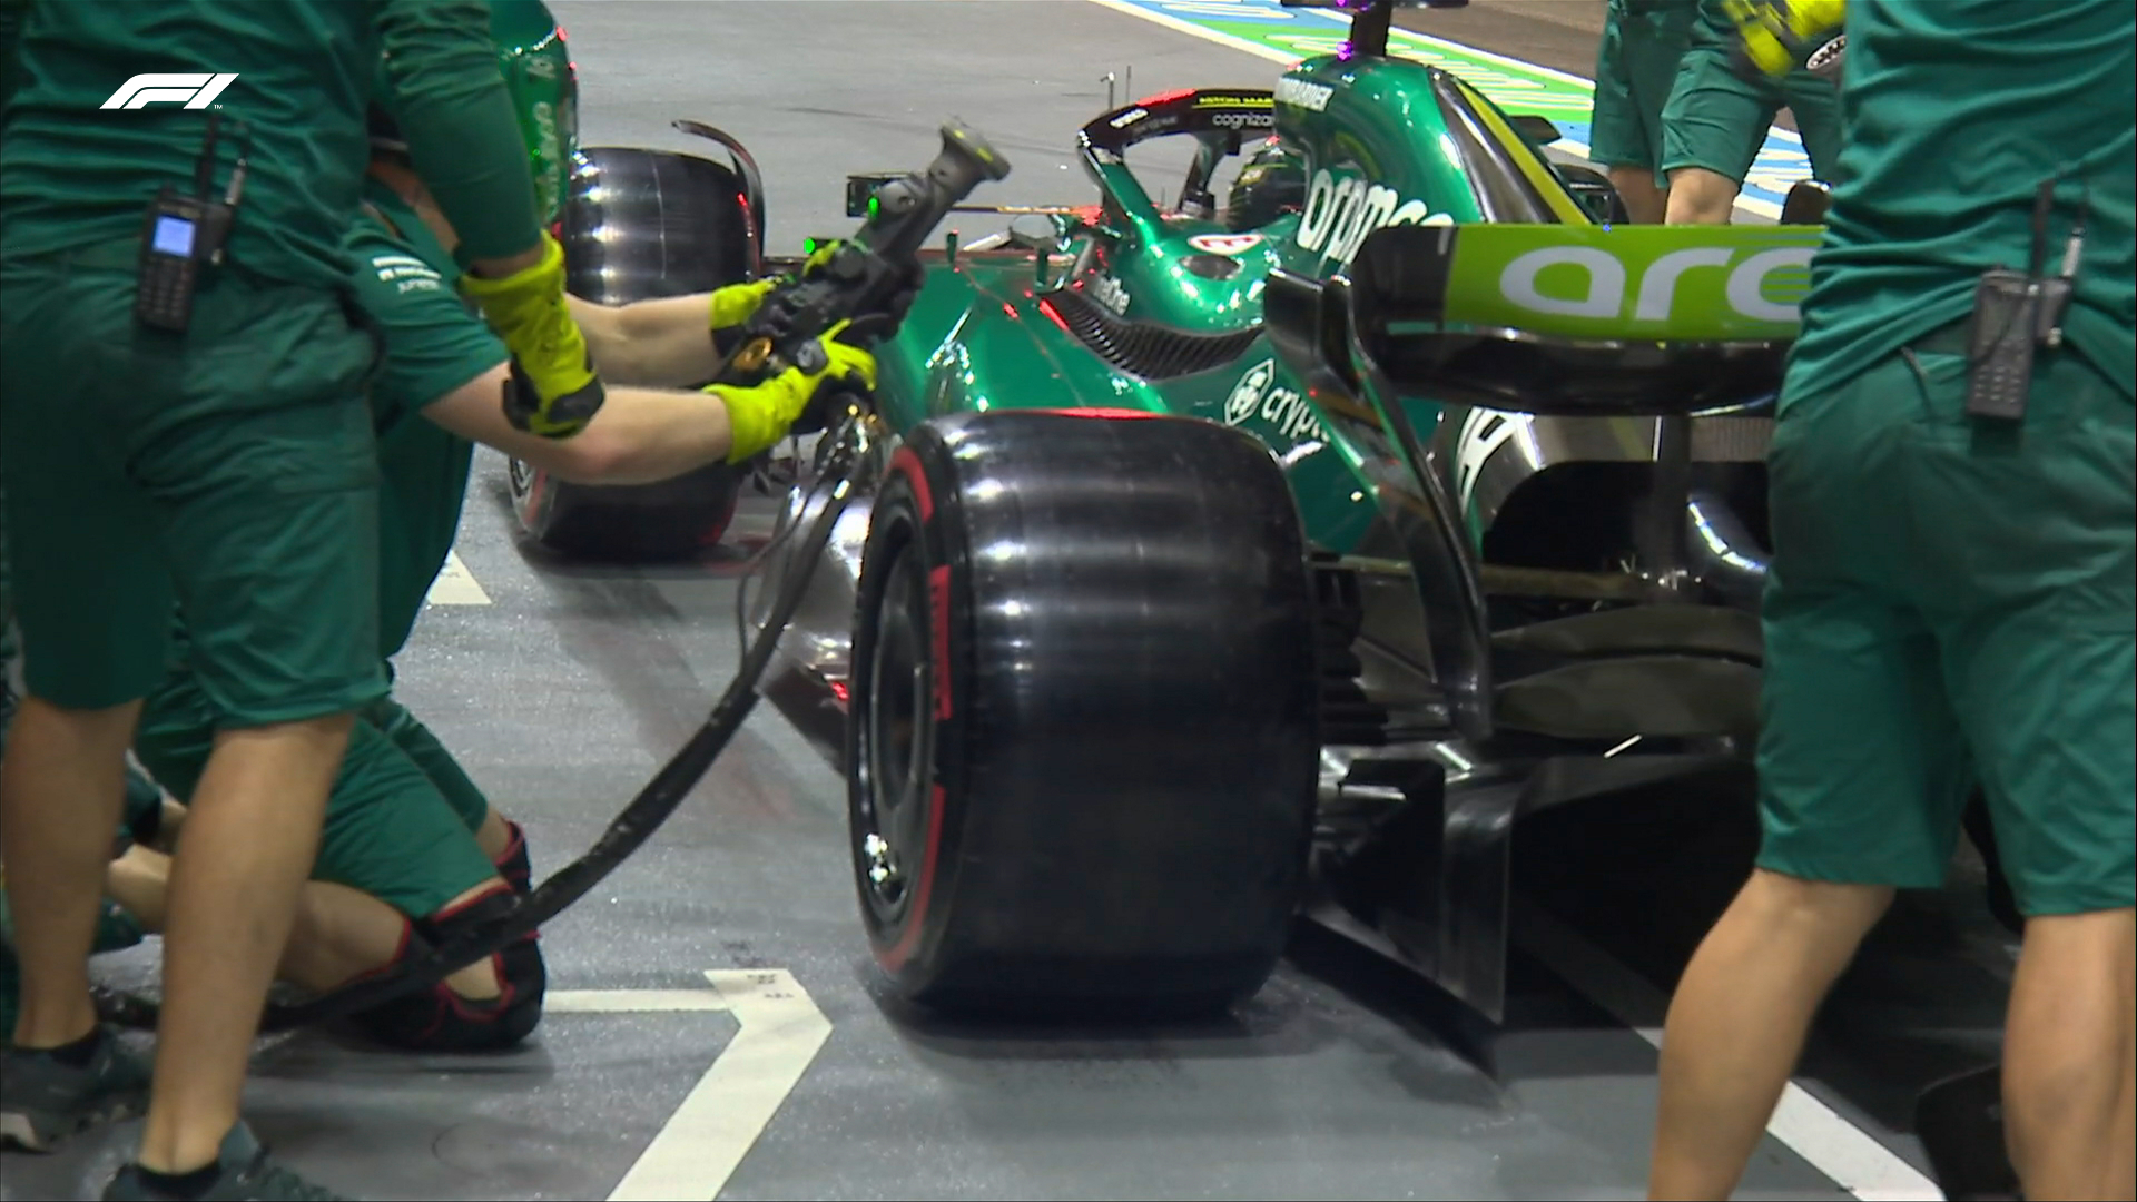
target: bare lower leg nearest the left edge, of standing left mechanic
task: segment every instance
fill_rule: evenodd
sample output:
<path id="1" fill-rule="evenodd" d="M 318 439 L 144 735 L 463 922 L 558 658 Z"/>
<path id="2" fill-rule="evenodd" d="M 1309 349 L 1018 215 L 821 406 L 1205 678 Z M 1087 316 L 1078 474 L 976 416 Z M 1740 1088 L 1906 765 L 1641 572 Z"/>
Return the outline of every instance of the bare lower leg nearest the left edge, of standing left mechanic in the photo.
<path id="1" fill-rule="evenodd" d="M 141 702 L 62 710 L 24 697 L 15 710 L 0 764 L 0 856 L 21 962 L 17 1048 L 58 1048 L 96 1029 L 90 945 L 139 716 Z"/>

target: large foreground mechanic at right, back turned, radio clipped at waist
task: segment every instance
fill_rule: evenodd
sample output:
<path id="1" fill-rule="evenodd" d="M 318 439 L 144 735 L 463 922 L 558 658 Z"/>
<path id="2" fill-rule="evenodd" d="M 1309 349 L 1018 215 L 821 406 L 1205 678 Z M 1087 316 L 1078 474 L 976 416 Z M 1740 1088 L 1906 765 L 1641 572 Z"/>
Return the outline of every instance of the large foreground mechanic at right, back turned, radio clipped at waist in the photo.
<path id="1" fill-rule="evenodd" d="M 2026 915 L 2011 1164 L 2026 1198 L 2131 1198 L 2137 9 L 1853 0 L 1844 30 L 1769 460 L 1765 845 L 1669 1012 L 1650 1196 L 1737 1183 L 1979 776 Z"/>

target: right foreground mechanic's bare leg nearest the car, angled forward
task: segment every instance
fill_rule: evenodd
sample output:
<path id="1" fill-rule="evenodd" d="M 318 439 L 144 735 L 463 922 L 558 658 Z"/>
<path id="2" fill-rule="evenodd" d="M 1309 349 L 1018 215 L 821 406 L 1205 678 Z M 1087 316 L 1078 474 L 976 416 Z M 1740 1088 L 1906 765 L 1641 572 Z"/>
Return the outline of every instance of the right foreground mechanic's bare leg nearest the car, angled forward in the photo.
<path id="1" fill-rule="evenodd" d="M 1648 1198 L 1729 1198 L 1819 1003 L 1889 905 L 1883 885 L 1752 870 L 1669 1003 Z"/>

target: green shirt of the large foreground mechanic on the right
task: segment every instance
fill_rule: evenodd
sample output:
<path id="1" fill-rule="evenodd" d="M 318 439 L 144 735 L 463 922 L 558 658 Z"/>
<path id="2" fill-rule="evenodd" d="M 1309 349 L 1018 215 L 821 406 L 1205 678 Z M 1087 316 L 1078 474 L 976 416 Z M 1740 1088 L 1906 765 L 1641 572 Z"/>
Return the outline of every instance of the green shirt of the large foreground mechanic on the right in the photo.
<path id="1" fill-rule="evenodd" d="M 1964 319 L 1981 272 L 2024 269 L 2034 188 L 2064 167 L 2049 269 L 2086 218 L 2064 338 L 2133 396 L 2137 4 L 1855 0 L 1846 34 L 1842 182 L 1784 404 Z"/>

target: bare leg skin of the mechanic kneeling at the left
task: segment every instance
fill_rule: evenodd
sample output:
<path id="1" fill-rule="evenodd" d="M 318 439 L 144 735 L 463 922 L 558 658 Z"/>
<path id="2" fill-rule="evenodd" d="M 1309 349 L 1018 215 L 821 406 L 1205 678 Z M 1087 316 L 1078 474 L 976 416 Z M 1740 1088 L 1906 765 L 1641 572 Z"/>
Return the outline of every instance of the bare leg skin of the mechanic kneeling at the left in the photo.
<path id="1" fill-rule="evenodd" d="M 147 847 L 128 847 L 105 875 L 111 900 L 126 907 L 126 913 L 152 933 L 162 930 L 169 885 L 171 858 Z M 447 903 L 447 909 L 502 885 L 504 881 L 496 877 L 483 881 Z M 276 975 L 312 992 L 336 990 L 353 977 L 391 965 L 402 950 L 404 930 L 402 913 L 391 905 L 336 881 L 306 881 Z M 444 984 L 470 1001 L 489 1001 L 504 992 L 489 960 L 459 969 Z"/>

